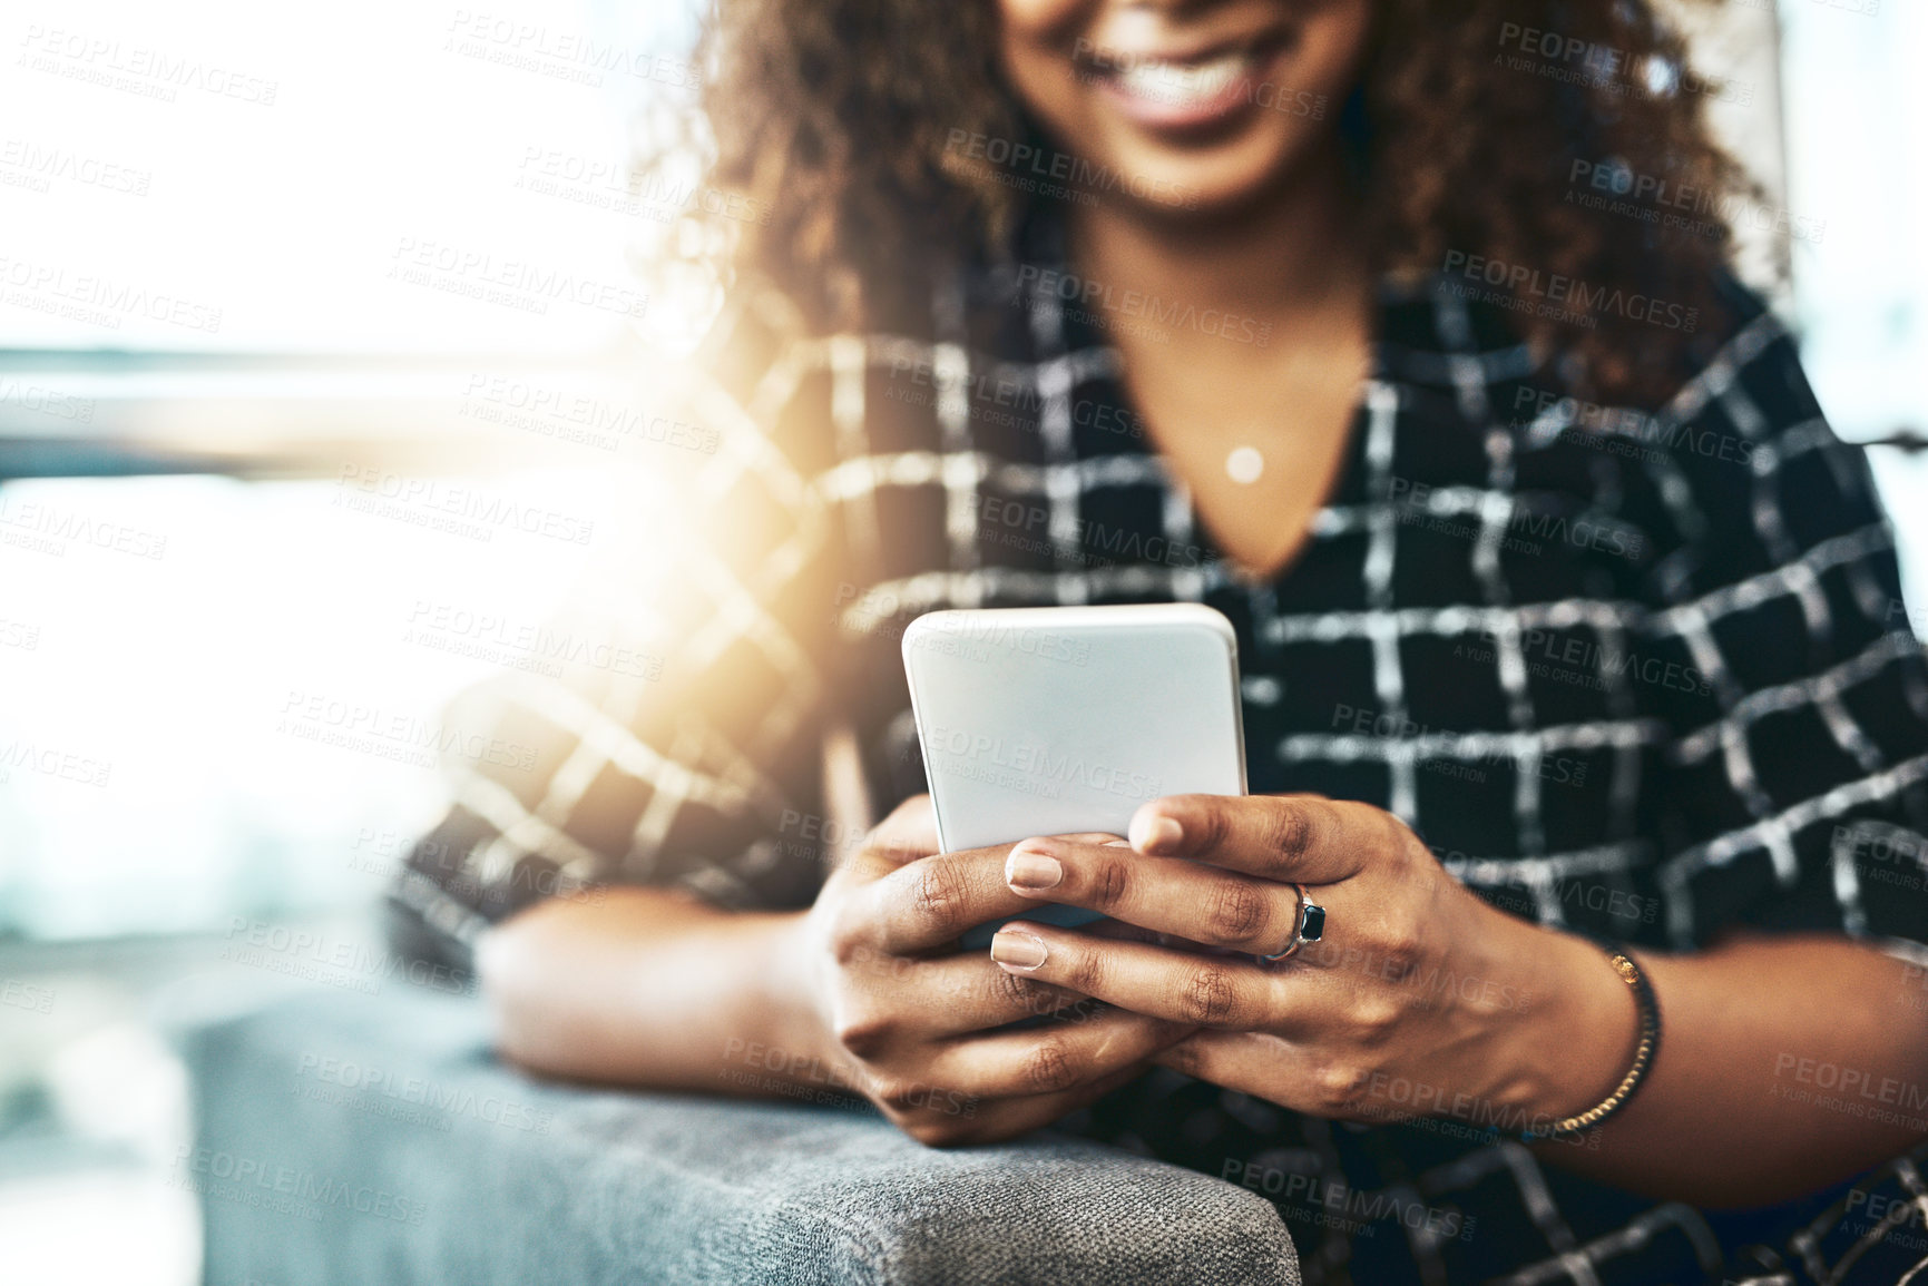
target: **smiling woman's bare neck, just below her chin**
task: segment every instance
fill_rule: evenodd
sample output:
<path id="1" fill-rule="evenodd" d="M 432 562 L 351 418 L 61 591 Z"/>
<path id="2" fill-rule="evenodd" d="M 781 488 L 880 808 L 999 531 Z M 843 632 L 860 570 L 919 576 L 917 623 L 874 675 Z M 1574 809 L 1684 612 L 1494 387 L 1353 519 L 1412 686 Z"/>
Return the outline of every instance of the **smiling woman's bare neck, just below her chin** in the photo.
<path id="1" fill-rule="evenodd" d="M 1205 218 L 1126 202 L 1072 206 L 1068 218 L 1080 276 L 1282 326 L 1355 295 L 1365 280 L 1336 147 L 1294 166 L 1272 191 Z"/>

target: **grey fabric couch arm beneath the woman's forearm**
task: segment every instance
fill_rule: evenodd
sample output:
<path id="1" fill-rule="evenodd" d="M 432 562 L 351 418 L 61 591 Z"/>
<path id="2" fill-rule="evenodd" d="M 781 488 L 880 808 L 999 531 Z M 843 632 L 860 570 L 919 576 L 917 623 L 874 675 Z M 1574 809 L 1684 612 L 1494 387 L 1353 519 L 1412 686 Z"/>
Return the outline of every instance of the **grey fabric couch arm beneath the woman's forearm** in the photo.
<path id="1" fill-rule="evenodd" d="M 1298 1286 L 1207 1174 L 1035 1138 L 931 1151 L 868 1111 L 530 1082 L 474 999 L 312 995 L 181 1037 L 206 1282 Z"/>

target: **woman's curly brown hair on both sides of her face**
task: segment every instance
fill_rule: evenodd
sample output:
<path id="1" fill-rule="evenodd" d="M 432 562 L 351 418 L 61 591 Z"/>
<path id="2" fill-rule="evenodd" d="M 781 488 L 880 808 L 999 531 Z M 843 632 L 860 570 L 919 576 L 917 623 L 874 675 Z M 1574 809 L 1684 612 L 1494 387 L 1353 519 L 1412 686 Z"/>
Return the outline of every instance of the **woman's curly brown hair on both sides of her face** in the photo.
<path id="1" fill-rule="evenodd" d="M 1043 143 L 997 21 L 993 0 L 719 0 L 700 44 L 708 181 L 763 218 L 696 210 L 708 228 L 684 245 L 727 245 L 727 272 L 821 328 L 877 326 L 943 262 L 1008 255 L 1045 199 L 947 154 L 954 131 Z M 1569 359 L 1575 389 L 1652 405 L 1724 326 L 1726 210 L 1756 193 L 1706 125 L 1720 91 L 1654 0 L 1375 0 L 1338 127 L 1379 270 L 1485 260 L 1473 285 Z M 1635 179 L 1693 191 L 1693 226 L 1589 208 L 1604 202 L 1577 174 L 1608 175 L 1608 201 Z M 1554 307 L 1556 278 L 1577 289 Z"/>

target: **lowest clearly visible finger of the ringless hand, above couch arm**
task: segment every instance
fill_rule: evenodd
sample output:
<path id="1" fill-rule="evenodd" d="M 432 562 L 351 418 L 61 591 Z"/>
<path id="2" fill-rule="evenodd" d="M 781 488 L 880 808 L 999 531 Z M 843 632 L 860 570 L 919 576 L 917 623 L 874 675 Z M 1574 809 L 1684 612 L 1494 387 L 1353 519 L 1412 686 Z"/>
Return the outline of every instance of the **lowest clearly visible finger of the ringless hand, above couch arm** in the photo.
<path id="1" fill-rule="evenodd" d="M 927 1076 L 979 1099 L 1051 1095 L 1143 1062 L 1190 1030 L 1107 1008 L 1087 1022 L 951 1041 L 931 1058 Z"/>

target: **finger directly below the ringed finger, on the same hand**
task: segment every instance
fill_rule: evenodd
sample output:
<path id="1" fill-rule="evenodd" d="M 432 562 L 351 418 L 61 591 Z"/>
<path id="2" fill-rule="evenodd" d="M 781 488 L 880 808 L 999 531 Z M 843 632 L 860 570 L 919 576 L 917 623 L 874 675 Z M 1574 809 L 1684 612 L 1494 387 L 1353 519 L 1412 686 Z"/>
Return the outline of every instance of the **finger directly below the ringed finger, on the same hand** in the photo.
<path id="1" fill-rule="evenodd" d="M 1016 974 L 1192 1028 L 1294 1030 L 1321 1018 L 1340 995 L 1326 970 L 1271 972 L 1245 956 L 1097 939 L 1028 920 L 997 931 L 991 958 Z"/>

